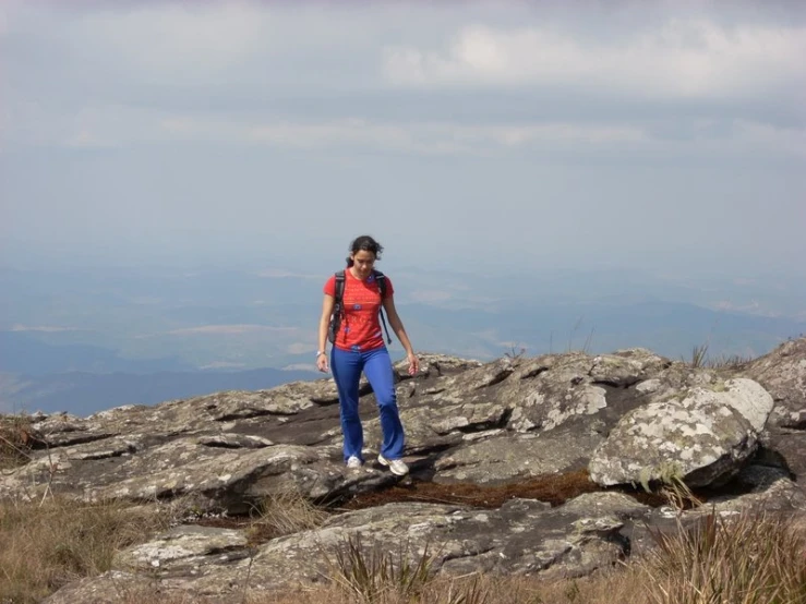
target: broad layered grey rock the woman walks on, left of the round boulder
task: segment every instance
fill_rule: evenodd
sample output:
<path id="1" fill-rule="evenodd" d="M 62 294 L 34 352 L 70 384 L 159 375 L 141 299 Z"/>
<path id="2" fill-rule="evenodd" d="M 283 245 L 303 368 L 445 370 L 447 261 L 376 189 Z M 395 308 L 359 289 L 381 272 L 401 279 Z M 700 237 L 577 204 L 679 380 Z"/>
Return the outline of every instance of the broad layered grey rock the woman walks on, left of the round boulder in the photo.
<path id="1" fill-rule="evenodd" d="M 584 467 L 621 414 L 648 400 L 635 385 L 670 366 L 639 349 L 485 364 L 423 355 L 422 362 L 416 378 L 405 361 L 396 365 L 412 469 L 435 481 L 465 473 L 484 483 Z M 372 389 L 364 383 L 361 392 L 371 459 L 381 426 Z M 358 476 L 345 474 L 330 378 L 127 406 L 85 419 L 38 416 L 36 427 L 47 450 L 0 479 L 0 496 L 36 498 L 51 487 L 85 499 L 193 496 L 236 514 L 285 483 L 328 500 L 389 483 L 371 466 Z M 517 455 L 521 444 L 525 456 Z"/>

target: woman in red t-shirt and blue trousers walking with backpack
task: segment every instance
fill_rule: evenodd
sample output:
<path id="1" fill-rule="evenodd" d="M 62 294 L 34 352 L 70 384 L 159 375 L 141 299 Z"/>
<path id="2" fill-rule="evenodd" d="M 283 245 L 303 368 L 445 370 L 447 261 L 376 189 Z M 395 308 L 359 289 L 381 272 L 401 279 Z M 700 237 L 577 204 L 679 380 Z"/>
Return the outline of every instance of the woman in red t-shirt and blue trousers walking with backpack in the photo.
<path id="1" fill-rule="evenodd" d="M 364 462 L 363 430 L 358 413 L 359 379 L 363 372 L 375 392 L 381 415 L 383 443 L 377 460 L 388 467 L 394 474 L 402 476 L 408 473 L 409 468 L 402 460 L 405 435 L 397 409 L 392 360 L 378 322 L 382 306 L 395 335 L 406 349 L 410 375 L 420 370 L 420 361 L 411 348 L 409 337 L 395 309 L 395 290 L 388 277 L 385 277 L 386 294 L 383 300 L 381 298 L 378 279 L 375 278 L 373 268 L 382 252 L 383 246 L 370 235 L 359 237 L 350 245 L 350 256 L 347 258 L 345 270 L 342 316 L 330 350 L 330 369 L 338 389 L 347 467 L 360 468 Z M 324 292 L 316 352 L 316 367 L 321 372 L 328 370 L 325 350 L 336 294 L 335 275 L 325 283 Z"/>

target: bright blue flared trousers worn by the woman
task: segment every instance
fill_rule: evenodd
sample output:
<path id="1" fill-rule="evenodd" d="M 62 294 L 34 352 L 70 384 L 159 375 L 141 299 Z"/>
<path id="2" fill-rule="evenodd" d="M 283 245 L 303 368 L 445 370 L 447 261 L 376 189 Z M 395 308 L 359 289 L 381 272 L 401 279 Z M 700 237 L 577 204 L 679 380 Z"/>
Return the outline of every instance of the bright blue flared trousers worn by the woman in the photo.
<path id="1" fill-rule="evenodd" d="M 386 347 L 364 351 L 340 350 L 333 347 L 330 370 L 336 380 L 341 408 L 345 461 L 352 456 L 363 461 L 361 450 L 364 445 L 364 434 L 361 418 L 358 414 L 358 385 L 362 371 L 377 400 L 383 432 L 381 455 L 386 459 L 400 459 L 405 445 L 404 428 L 397 410 L 392 359 L 389 359 Z"/>

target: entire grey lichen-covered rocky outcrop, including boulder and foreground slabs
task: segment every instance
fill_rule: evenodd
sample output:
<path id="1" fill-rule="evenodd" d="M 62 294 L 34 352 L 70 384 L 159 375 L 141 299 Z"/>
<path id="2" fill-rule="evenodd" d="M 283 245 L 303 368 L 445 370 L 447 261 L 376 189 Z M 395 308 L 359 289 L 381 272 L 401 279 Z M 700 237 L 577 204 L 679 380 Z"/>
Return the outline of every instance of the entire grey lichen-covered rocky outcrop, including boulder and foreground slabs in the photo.
<path id="1" fill-rule="evenodd" d="M 806 340 L 721 370 L 693 369 L 645 349 L 421 361 L 416 377 L 404 363 L 396 366 L 411 467 L 402 481 L 372 461 L 381 433 L 365 383 L 360 409 L 370 462 L 359 470 L 344 466 L 328 378 L 88 418 L 33 416 L 38 448 L 28 463 L 0 476 L 0 497 L 181 500 L 200 512 L 233 516 L 291 490 L 339 510 L 320 528 L 263 543 L 237 528 L 188 521 L 49 601 L 104 601 L 109 583 L 135 589 L 141 580 L 193 592 L 200 602 L 226 601 L 246 576 L 252 589 L 315 581 L 323 553 L 357 539 L 365 547 L 408 543 L 412 552 L 434 544 L 435 569 L 448 575 L 581 576 L 629 556 L 643 543 L 637 527 L 667 521 L 669 510 L 640 503 L 641 488 L 634 487 L 670 479 L 707 490 L 724 510 L 806 510 L 797 482 L 806 468 L 797 456 L 790 459 L 806 449 L 797 420 Z M 542 500 L 517 491 L 586 470 L 584 495 Z M 479 494 L 513 491 L 492 507 L 481 496 L 456 495 L 345 510 L 362 497 L 418 484 L 446 494 L 468 485 Z"/>

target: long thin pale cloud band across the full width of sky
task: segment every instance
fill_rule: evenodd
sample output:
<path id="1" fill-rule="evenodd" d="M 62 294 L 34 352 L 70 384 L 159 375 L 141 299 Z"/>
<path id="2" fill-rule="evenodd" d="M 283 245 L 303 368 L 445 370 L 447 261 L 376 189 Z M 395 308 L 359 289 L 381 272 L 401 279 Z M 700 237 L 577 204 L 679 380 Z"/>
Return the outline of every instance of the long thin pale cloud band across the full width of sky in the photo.
<path id="1" fill-rule="evenodd" d="M 504 153 L 663 150 L 689 155 L 806 156 L 806 130 L 747 119 L 628 121 L 409 121 L 330 118 L 279 119 L 230 112 L 170 112 L 124 105 L 92 106 L 52 116 L 36 105 L 17 111 L 5 131 L 12 145 L 125 148 L 177 143 L 232 144 L 278 149 L 369 149 L 424 156 Z"/>

